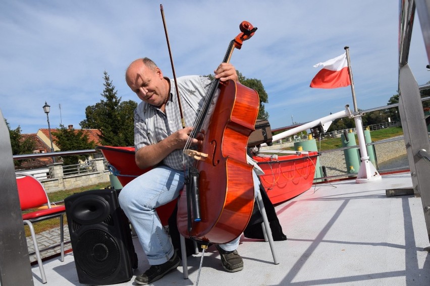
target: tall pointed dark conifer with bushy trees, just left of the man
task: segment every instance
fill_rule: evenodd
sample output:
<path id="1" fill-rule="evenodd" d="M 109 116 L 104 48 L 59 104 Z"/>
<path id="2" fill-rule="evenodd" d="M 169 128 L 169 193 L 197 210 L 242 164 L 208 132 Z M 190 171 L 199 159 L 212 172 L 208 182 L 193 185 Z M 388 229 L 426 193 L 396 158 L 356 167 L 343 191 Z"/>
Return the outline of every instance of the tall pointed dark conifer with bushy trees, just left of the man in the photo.
<path id="1" fill-rule="evenodd" d="M 100 142 L 108 146 L 134 145 L 134 109 L 137 103 L 133 100 L 121 102 L 117 91 L 106 71 L 103 73 L 104 90 L 100 95 L 104 98 L 95 105 L 85 108 L 86 119 L 79 125 L 82 128 L 98 129 Z"/>

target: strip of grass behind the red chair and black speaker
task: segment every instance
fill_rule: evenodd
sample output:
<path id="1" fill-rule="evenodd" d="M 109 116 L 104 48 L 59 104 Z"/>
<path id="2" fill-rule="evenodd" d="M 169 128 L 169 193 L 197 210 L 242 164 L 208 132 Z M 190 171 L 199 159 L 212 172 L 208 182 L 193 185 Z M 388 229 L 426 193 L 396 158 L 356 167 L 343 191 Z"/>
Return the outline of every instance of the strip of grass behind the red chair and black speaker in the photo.
<path id="1" fill-rule="evenodd" d="M 73 195 L 75 193 L 80 193 L 88 190 L 96 190 L 96 189 L 104 189 L 105 187 L 109 187 L 111 184 L 109 182 L 107 183 L 100 183 L 97 185 L 91 185 L 86 187 L 80 187 L 80 188 L 74 188 L 70 190 L 62 190 L 57 192 L 48 193 L 49 201 L 52 202 L 62 202 L 64 199 L 70 195 Z M 59 203 L 61 204 L 61 203 Z M 66 215 L 64 216 L 64 224 L 67 224 L 67 218 Z M 58 228 L 60 226 L 60 218 L 53 218 L 46 221 L 41 221 L 33 224 L 34 231 L 36 234 L 41 233 L 43 231 L 47 231 L 53 228 Z M 30 236 L 30 229 L 27 225 L 24 226 L 25 230 L 25 236 Z"/>

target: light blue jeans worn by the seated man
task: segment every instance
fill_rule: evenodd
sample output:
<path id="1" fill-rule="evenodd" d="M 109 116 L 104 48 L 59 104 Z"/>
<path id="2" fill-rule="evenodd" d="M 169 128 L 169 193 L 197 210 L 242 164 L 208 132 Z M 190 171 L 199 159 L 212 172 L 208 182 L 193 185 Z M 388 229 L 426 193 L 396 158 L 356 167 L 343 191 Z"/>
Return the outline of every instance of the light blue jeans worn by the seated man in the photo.
<path id="1" fill-rule="evenodd" d="M 254 189 L 259 191 L 258 177 L 253 173 Z M 184 186 L 184 172 L 158 166 L 124 186 L 119 195 L 121 208 L 132 223 L 150 265 L 167 262 L 174 254 L 173 245 L 163 229 L 155 208 L 179 196 Z M 239 239 L 220 245 L 233 251 Z"/>

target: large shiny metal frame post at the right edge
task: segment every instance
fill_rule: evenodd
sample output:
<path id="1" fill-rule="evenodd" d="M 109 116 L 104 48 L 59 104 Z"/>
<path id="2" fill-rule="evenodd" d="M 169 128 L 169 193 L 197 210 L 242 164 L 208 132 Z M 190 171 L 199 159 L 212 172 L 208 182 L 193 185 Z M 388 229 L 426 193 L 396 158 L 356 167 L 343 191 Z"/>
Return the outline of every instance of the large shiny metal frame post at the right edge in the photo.
<path id="1" fill-rule="evenodd" d="M 406 152 L 414 193 L 421 196 L 427 237 L 430 241 L 430 141 L 422 109 L 418 84 L 407 63 L 415 18 L 415 2 L 421 32 L 430 59 L 430 3 L 423 0 L 400 1 L 399 11 L 399 115 L 405 137 Z M 423 67 L 425 65 L 423 64 Z M 427 250 L 427 248 L 424 248 Z"/>

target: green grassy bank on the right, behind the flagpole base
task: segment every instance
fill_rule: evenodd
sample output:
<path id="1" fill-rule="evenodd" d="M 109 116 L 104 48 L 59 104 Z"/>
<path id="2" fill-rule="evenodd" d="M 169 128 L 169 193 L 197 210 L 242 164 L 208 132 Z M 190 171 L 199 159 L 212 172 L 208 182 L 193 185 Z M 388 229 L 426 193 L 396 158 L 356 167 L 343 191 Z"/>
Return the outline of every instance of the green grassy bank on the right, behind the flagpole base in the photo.
<path id="1" fill-rule="evenodd" d="M 370 138 L 372 141 L 379 141 L 395 136 L 403 135 L 402 127 L 390 127 L 385 129 L 370 131 Z M 355 135 L 355 141 L 358 144 L 357 135 Z M 326 151 L 342 148 L 342 141 L 340 138 L 326 138 L 316 142 L 318 151 Z M 285 150 L 294 150 L 294 147 L 284 148 Z"/>

